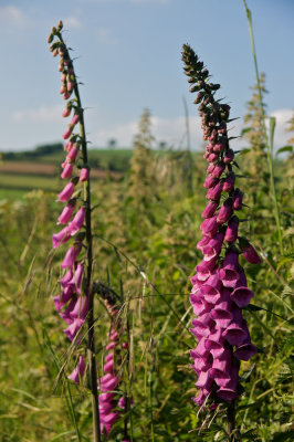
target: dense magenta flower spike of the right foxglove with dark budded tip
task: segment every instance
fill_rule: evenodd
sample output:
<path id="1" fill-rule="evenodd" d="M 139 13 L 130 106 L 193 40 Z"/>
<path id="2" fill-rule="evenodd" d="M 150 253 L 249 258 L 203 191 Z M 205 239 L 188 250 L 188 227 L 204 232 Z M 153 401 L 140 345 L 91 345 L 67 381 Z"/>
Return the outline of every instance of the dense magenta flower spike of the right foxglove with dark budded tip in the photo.
<path id="1" fill-rule="evenodd" d="M 191 277 L 190 295 L 198 316 L 192 320 L 191 333 L 198 345 L 191 350 L 191 358 L 200 391 L 193 400 L 203 409 L 206 404 L 214 407 L 220 400 L 238 398 L 240 360 L 249 360 L 258 351 L 242 316 L 253 292 L 248 287 L 239 255 L 252 264 L 261 260 L 252 244 L 239 238 L 235 211 L 242 209 L 243 193 L 234 187 L 234 152 L 227 133 L 230 106 L 214 99 L 220 85 L 208 83 L 209 72 L 189 45 L 183 45 L 182 61 L 192 84 L 190 91 L 198 93 L 195 103 L 199 104 L 203 139 L 208 141 L 204 158 L 209 166 L 203 187 L 209 202 L 202 212 L 202 239 L 197 244 L 203 260 Z"/>

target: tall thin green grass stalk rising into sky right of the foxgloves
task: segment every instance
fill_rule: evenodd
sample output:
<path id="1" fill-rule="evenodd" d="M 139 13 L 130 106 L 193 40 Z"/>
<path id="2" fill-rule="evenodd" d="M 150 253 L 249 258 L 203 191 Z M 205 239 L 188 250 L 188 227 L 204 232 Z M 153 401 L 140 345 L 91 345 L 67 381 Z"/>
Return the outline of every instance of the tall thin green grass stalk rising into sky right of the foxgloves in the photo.
<path id="1" fill-rule="evenodd" d="M 266 146 L 271 190 L 272 190 L 272 198 L 274 201 L 275 222 L 276 222 L 277 234 L 279 234 L 280 251 L 281 251 L 281 254 L 283 255 L 284 248 L 283 248 L 283 238 L 282 238 L 282 228 L 281 228 L 281 217 L 280 217 L 280 210 L 279 210 L 276 190 L 275 190 L 275 183 L 274 183 L 273 156 L 272 156 L 275 118 L 273 118 L 273 117 L 270 118 L 270 141 L 269 141 L 269 136 L 267 136 L 266 125 L 265 125 L 265 112 L 264 112 L 264 105 L 262 102 L 262 91 L 261 91 L 261 84 L 260 84 L 260 74 L 259 74 L 258 59 L 256 59 L 256 52 L 255 52 L 255 43 L 254 43 L 254 36 L 253 36 L 252 15 L 251 15 L 250 9 L 246 6 L 245 0 L 243 0 L 243 4 L 244 4 L 245 11 L 246 11 L 246 17 L 248 17 L 251 49 L 252 49 L 253 63 L 254 63 L 254 70 L 255 70 L 255 76 L 256 76 L 261 117 L 262 117 L 262 128 L 263 128 L 265 146 Z"/>

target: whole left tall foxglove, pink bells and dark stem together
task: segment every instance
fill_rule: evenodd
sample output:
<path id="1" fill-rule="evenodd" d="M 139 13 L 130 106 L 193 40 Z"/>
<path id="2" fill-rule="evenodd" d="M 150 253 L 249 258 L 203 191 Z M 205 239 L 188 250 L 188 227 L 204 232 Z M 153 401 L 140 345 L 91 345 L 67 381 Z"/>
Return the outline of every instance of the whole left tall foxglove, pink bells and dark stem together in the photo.
<path id="1" fill-rule="evenodd" d="M 60 56 L 59 71 L 61 73 L 60 93 L 65 101 L 63 117 L 70 117 L 71 123 L 63 134 L 66 140 L 64 150 L 67 152 L 62 164 L 61 178 L 70 180 L 60 192 L 57 201 L 65 203 L 57 224 L 63 229 L 53 234 L 53 248 L 73 241 L 61 269 L 65 272 L 60 280 L 61 293 L 54 297 L 57 313 L 66 322 L 64 329 L 67 338 L 74 344 L 80 344 L 82 329 L 87 324 L 87 354 L 90 366 L 90 388 L 92 392 L 93 435 L 94 442 L 101 441 L 99 404 L 97 392 L 97 370 L 95 361 L 95 337 L 93 318 L 93 287 L 92 287 L 92 228 L 91 228 L 91 189 L 90 168 L 87 164 L 87 143 L 83 107 L 81 104 L 78 83 L 74 72 L 73 61 L 62 36 L 63 23 L 52 28 L 48 42 L 53 56 Z M 80 131 L 76 133 L 78 125 Z M 78 161 L 78 162 L 77 162 Z M 80 175 L 76 175 L 80 169 Z M 81 186 L 83 183 L 83 186 Z M 83 187 L 83 192 L 82 192 Z M 82 196 L 83 193 L 83 196 Z M 81 254 L 82 250 L 86 255 Z M 80 383 L 85 372 L 84 356 L 81 355 L 73 372 L 69 376 L 75 383 Z"/>

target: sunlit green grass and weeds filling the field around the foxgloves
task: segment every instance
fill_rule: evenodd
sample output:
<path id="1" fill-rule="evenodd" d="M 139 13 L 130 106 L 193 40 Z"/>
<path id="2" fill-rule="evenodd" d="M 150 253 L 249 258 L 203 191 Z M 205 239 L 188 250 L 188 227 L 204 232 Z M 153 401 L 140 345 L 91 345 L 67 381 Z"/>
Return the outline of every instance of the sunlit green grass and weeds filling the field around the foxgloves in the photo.
<path id="1" fill-rule="evenodd" d="M 159 442 L 228 441 L 225 408 L 214 414 L 199 414 L 190 399 L 196 394 L 196 376 L 189 366 L 189 350 L 196 341 L 189 333 L 193 317 L 189 276 L 200 260 L 196 243 L 204 207 L 200 185 L 204 164 L 200 155 L 192 157 L 190 192 L 182 173 L 182 156 L 167 151 L 149 158 L 157 175 L 157 198 L 146 198 L 146 219 L 140 224 L 134 222 L 136 213 L 128 206 L 127 179 L 93 182 L 95 280 L 122 294 L 120 316 L 129 327 L 130 361 L 129 366 L 126 361 L 122 365 L 122 389 L 134 399 L 129 414 L 134 441 L 150 441 L 151 433 Z M 283 189 L 286 182 L 283 164 L 280 166 Z M 264 204 L 266 198 L 264 194 Z M 76 388 L 66 382 L 65 375 L 75 360 L 52 299 L 57 294 L 59 262 L 66 250 L 52 251 L 50 238 L 61 211 L 54 200 L 55 193 L 34 191 L 22 201 L 7 199 L 0 206 L 3 441 L 78 440 L 73 419 L 81 440 L 92 438 L 90 394 L 86 386 Z M 265 206 L 262 210 L 266 217 Z M 286 218 L 283 220 L 286 233 L 290 225 Z M 287 253 L 282 257 L 274 229 L 269 222 L 266 229 L 265 224 L 259 227 L 259 222 L 253 242 L 261 244 L 265 260 L 261 266 L 244 264 L 258 306 L 244 315 L 261 352 L 253 365 L 242 365 L 244 393 L 237 404 L 237 422 L 242 441 L 287 441 L 293 375 L 288 323 L 293 276 L 286 259 L 291 256 L 291 241 L 287 236 Z M 241 234 L 248 234 L 251 224 L 242 223 Z M 101 370 L 109 318 L 103 303 L 96 301 Z M 109 441 L 120 441 L 122 429 L 119 420 Z"/>

